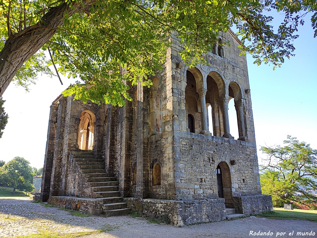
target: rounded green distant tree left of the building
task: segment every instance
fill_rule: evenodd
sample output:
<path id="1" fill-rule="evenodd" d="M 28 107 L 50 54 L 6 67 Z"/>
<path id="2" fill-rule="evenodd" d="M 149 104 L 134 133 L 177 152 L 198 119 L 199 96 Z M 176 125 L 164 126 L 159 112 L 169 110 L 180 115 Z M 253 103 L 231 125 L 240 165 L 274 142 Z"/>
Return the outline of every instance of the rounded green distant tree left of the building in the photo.
<path id="1" fill-rule="evenodd" d="M 33 169 L 29 166 L 29 161 L 21 157 L 14 157 L 2 167 L 0 167 L 0 183 L 16 189 L 32 192 L 34 190 Z"/>

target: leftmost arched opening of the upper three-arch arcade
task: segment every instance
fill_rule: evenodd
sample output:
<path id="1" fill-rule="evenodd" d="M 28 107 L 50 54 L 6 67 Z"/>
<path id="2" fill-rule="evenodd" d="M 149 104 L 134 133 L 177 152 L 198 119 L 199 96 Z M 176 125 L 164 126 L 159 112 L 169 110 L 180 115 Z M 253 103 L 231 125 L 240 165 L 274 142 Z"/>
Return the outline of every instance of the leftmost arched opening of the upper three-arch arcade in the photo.
<path id="1" fill-rule="evenodd" d="M 192 133 L 199 133 L 202 129 L 201 122 L 201 105 L 197 89 L 203 88 L 203 76 L 197 68 L 190 68 L 186 71 L 186 88 L 185 88 L 185 109 L 187 113 L 188 130 Z M 189 116 L 191 115 L 191 116 Z M 192 119 L 193 126 L 190 128 Z M 195 120 L 196 119 L 196 120 Z M 191 130 L 192 129 L 192 130 Z"/>

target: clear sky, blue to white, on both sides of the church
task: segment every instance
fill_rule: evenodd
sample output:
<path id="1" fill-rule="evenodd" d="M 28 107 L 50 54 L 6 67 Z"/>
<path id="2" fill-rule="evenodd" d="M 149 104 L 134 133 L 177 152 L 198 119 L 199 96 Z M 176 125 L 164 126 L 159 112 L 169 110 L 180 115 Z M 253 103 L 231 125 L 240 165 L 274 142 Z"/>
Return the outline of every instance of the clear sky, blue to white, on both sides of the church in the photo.
<path id="1" fill-rule="evenodd" d="M 258 149 L 260 145 L 282 144 L 287 135 L 317 149 L 317 38 L 313 38 L 309 18 L 298 33 L 295 56 L 286 59 L 281 68 L 273 71 L 272 66 L 256 66 L 252 57 L 247 56 Z M 3 94 L 10 118 L 0 139 L 0 160 L 20 156 L 33 167 L 43 167 L 49 106 L 71 83 L 67 78 L 62 81 L 64 86 L 57 77 L 39 76 L 30 93 L 10 84 Z M 229 116 L 230 132 L 238 138 L 233 103 L 229 105 Z M 258 156 L 261 162 L 264 155 Z"/>

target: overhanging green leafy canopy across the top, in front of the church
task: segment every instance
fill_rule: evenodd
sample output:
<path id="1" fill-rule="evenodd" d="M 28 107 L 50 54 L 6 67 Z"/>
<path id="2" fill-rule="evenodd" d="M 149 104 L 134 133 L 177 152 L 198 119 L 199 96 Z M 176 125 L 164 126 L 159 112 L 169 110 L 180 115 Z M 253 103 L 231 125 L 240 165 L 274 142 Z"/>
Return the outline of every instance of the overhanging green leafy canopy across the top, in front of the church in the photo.
<path id="1" fill-rule="evenodd" d="M 151 84 L 147 77 L 161 68 L 171 32 L 177 32 L 184 45 L 180 54 L 189 66 L 206 63 L 203 54 L 212 49 L 219 33 L 236 26 L 237 35 L 248 43 L 241 45 L 242 53 L 251 53 L 258 65 L 277 67 L 293 56 L 292 41 L 303 24 L 301 17 L 312 14 L 313 27 L 317 24 L 313 0 L 0 0 L 0 49 L 8 37 L 39 23 L 45 26 L 43 16 L 50 10 L 63 4 L 75 9 L 78 3 L 82 7 L 71 16 L 65 11 L 55 35 L 24 63 L 14 78 L 17 84 L 28 89 L 38 73 L 52 76 L 49 66 L 54 62 L 58 72 L 79 76 L 85 84 L 70 85 L 64 96 L 123 105 L 123 98 L 131 100 L 126 81 L 135 84 L 143 79 L 143 85 Z M 272 17 L 265 16 L 272 9 L 285 14 L 277 32 L 272 30 Z M 48 49 L 51 59 L 44 53 Z"/>

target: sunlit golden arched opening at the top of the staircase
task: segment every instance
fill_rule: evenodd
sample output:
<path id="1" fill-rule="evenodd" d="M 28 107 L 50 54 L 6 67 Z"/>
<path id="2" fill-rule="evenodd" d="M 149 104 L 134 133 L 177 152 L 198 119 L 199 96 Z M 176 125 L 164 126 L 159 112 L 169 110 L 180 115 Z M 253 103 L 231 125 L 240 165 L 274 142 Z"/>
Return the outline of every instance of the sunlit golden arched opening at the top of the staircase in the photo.
<path id="1" fill-rule="evenodd" d="M 81 112 L 80 124 L 78 128 L 78 146 L 79 149 L 94 148 L 94 121 L 95 115 L 89 110 Z"/>

